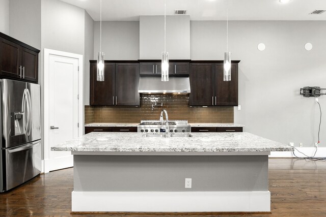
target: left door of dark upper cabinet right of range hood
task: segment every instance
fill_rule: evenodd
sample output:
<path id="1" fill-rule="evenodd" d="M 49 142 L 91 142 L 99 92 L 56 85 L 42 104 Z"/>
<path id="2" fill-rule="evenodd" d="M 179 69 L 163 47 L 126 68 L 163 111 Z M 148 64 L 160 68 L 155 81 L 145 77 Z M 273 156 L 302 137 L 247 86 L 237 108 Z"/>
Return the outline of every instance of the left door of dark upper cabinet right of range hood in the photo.
<path id="1" fill-rule="evenodd" d="M 213 64 L 195 63 L 190 66 L 190 106 L 212 106 Z"/>

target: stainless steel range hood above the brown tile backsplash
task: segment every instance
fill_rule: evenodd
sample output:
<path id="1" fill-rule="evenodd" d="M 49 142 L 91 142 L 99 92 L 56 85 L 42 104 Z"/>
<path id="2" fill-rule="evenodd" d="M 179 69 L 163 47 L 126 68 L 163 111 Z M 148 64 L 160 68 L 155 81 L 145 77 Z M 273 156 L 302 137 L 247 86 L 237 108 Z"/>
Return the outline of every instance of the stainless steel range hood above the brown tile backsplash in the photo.
<path id="1" fill-rule="evenodd" d="M 190 92 L 189 77 L 169 77 L 169 81 L 161 81 L 161 77 L 141 76 L 138 92 L 141 94 L 188 94 Z"/>

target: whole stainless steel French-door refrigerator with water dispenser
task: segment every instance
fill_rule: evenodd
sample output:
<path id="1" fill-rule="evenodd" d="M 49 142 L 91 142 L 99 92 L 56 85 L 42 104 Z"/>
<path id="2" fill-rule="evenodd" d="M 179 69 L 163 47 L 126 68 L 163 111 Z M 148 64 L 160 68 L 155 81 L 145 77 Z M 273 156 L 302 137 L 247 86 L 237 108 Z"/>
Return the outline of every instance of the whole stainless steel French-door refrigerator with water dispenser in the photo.
<path id="1" fill-rule="evenodd" d="M 1 189 L 8 191 L 41 172 L 40 85 L 0 80 Z"/>

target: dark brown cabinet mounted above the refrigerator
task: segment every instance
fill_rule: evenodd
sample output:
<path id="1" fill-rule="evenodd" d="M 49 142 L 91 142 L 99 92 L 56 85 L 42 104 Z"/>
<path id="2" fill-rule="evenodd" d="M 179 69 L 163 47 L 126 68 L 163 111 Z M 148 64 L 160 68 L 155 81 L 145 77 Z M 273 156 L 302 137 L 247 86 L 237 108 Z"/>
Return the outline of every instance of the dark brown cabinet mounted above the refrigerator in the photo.
<path id="1" fill-rule="evenodd" d="M 38 82 L 39 50 L 0 33 L 0 76 Z"/>

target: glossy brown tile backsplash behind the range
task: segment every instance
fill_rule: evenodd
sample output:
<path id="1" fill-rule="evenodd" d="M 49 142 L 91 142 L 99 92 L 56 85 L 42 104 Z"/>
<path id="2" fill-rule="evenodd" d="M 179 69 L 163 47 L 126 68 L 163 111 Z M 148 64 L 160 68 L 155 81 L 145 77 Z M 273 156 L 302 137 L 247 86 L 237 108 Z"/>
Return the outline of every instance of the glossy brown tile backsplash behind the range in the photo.
<path id="1" fill-rule="evenodd" d="M 152 105 L 154 106 L 152 110 Z M 233 123 L 233 106 L 189 107 L 188 95 L 141 95 L 141 106 L 85 106 L 85 123 L 132 122 L 159 119 L 162 109 L 168 111 L 169 119 L 185 119 L 189 123 Z"/>

